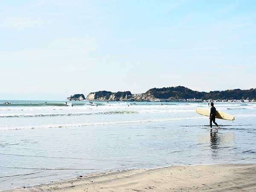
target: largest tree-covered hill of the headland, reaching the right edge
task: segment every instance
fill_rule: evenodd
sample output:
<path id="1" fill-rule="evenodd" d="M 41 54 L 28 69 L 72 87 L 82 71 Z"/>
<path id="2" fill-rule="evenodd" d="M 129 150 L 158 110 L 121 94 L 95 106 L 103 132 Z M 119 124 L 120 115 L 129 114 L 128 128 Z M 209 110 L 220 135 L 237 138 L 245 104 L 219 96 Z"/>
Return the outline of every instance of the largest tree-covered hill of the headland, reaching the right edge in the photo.
<path id="1" fill-rule="evenodd" d="M 163 87 L 148 90 L 143 97 L 159 99 L 256 99 L 256 89 L 199 92 L 187 87 Z"/>

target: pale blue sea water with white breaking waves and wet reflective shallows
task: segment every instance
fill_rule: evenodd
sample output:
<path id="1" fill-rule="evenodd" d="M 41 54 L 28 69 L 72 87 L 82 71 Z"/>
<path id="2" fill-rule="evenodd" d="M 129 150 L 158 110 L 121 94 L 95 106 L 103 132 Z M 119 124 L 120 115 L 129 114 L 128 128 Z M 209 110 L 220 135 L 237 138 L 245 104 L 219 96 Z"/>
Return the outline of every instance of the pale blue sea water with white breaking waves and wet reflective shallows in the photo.
<path id="1" fill-rule="evenodd" d="M 0 191 L 92 172 L 256 162 L 256 103 L 0 101 Z"/>

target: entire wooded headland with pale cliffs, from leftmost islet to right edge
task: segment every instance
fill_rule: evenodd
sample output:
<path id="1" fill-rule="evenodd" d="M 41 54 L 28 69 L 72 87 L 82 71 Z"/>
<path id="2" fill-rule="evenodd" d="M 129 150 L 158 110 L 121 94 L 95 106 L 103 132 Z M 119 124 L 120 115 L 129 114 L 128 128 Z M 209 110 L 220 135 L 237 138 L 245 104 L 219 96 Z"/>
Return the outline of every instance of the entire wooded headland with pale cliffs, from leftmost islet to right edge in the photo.
<path id="1" fill-rule="evenodd" d="M 187 87 L 177 86 L 177 87 L 163 87 L 163 88 L 153 88 L 148 90 L 146 93 L 141 94 L 131 94 L 130 91 L 116 92 L 111 91 L 98 91 L 94 93 L 89 93 L 85 99 L 83 94 L 76 94 L 67 98 L 68 100 L 82 101 L 82 100 L 99 100 L 99 101 L 147 101 L 154 99 L 203 99 L 203 100 L 242 100 L 256 99 L 256 89 L 250 90 L 224 90 L 224 91 L 210 91 L 200 92 L 191 90 Z"/>

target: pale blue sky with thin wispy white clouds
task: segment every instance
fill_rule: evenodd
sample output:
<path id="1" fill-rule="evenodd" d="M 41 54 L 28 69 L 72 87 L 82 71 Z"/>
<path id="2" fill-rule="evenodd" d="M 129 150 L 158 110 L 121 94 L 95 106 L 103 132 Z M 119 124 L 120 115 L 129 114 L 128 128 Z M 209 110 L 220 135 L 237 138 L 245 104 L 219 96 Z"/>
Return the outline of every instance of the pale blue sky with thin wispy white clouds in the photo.
<path id="1" fill-rule="evenodd" d="M 0 100 L 256 88 L 256 0 L 0 0 Z"/>

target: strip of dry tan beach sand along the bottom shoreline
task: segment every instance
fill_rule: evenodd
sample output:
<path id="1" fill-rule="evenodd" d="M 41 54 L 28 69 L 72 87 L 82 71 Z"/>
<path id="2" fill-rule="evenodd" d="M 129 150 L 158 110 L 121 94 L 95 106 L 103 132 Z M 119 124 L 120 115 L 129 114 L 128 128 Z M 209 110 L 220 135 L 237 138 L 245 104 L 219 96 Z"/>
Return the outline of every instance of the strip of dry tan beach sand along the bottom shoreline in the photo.
<path id="1" fill-rule="evenodd" d="M 12 192 L 255 192 L 256 164 L 170 166 L 93 173 Z"/>

